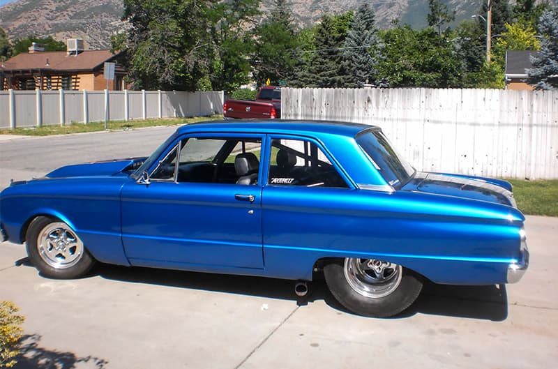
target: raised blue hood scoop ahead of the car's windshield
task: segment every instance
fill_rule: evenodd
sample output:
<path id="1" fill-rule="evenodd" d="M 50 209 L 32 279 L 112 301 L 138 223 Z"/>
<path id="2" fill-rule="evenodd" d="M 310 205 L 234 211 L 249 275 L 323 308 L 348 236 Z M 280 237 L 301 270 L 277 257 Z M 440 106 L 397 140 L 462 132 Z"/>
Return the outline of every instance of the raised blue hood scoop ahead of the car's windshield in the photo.
<path id="1" fill-rule="evenodd" d="M 67 178 L 77 176 L 114 176 L 128 175 L 136 170 L 146 158 L 129 158 L 120 160 L 106 160 L 94 163 L 66 165 L 53 170 L 47 178 Z"/>

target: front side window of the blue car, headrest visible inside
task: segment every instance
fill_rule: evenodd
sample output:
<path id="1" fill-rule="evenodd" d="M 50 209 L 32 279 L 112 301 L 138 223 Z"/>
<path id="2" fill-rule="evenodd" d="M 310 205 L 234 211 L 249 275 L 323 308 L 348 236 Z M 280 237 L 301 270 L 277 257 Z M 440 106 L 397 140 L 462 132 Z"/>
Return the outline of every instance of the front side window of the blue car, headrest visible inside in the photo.
<path id="1" fill-rule="evenodd" d="M 159 181 L 256 184 L 262 140 L 189 137 L 157 165 L 150 178 Z M 176 160 L 178 158 L 178 160 Z"/>

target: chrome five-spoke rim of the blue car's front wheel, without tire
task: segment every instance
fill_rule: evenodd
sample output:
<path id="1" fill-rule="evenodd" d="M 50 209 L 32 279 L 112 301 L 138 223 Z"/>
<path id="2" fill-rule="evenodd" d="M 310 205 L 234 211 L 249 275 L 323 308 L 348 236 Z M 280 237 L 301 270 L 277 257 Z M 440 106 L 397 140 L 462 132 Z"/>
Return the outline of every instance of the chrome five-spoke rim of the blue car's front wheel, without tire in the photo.
<path id="1" fill-rule="evenodd" d="M 67 269 L 84 255 L 82 240 L 66 223 L 46 225 L 37 236 L 37 250 L 41 259 L 54 269 Z"/>

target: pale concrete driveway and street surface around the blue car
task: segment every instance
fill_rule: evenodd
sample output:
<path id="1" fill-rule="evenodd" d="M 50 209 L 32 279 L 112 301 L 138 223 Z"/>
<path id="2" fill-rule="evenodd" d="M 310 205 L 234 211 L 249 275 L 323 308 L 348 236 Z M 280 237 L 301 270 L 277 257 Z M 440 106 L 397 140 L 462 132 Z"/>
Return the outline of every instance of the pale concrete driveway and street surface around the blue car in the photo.
<path id="1" fill-rule="evenodd" d="M 174 129 L 0 136 L 0 188 L 63 164 L 149 155 Z M 103 265 L 50 280 L 13 243 L 0 244 L 0 300 L 27 318 L 20 369 L 555 368 L 558 218 L 527 217 L 526 229 L 520 283 L 427 285 L 393 319 L 346 312 L 319 276 L 299 301 L 291 281 L 267 278 Z"/>

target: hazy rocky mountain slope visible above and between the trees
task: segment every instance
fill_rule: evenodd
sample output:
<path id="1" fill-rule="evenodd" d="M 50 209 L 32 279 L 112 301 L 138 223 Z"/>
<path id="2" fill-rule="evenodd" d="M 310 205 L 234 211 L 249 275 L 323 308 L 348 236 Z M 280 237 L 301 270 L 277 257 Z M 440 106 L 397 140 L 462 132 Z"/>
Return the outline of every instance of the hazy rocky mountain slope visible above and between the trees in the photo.
<path id="1" fill-rule="evenodd" d="M 428 0 L 292 0 L 294 19 L 302 26 L 313 24 L 325 13 L 354 10 L 367 1 L 376 12 L 379 27 L 393 20 L 425 27 Z M 273 0 L 262 1 L 262 15 L 273 8 Z M 455 23 L 470 19 L 481 8 L 481 0 L 444 0 L 456 12 Z M 18 0 L 0 6 L 0 27 L 11 39 L 53 36 L 56 40 L 82 38 L 90 49 L 110 47 L 110 36 L 126 29 L 121 22 L 122 0 Z"/>

